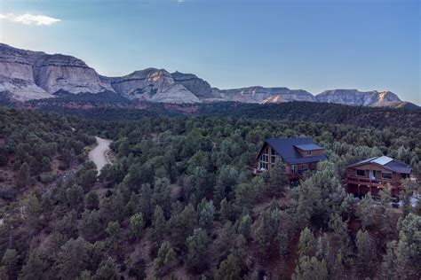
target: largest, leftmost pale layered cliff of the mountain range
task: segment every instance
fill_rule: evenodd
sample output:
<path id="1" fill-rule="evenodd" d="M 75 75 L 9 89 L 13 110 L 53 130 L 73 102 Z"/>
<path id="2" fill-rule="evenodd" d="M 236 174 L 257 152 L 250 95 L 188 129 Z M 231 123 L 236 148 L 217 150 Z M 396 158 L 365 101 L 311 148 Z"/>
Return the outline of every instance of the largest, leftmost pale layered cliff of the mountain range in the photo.
<path id="1" fill-rule="evenodd" d="M 53 97 L 59 90 L 69 93 L 114 91 L 78 58 L 24 51 L 0 43 L 0 92 L 26 101 Z"/>

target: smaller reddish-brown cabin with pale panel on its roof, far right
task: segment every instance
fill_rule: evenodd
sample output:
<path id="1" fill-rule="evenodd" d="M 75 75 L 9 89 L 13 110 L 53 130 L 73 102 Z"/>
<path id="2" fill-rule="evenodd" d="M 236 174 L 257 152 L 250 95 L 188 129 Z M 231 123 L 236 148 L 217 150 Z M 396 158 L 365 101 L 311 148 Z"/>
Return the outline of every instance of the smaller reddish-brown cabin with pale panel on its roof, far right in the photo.
<path id="1" fill-rule="evenodd" d="M 390 184 L 392 196 L 397 198 L 401 180 L 409 178 L 411 171 L 409 165 L 386 156 L 365 159 L 346 167 L 345 188 L 358 197 L 369 192 L 376 197 Z"/>

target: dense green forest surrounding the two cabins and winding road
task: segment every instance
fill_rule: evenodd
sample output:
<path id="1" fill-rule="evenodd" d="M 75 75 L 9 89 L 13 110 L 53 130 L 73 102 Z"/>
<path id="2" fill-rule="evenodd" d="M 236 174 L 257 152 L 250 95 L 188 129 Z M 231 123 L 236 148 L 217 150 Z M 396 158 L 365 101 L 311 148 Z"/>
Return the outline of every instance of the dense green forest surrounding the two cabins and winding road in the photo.
<path id="1" fill-rule="evenodd" d="M 419 111 L 232 106 L 0 108 L 0 278 L 419 279 L 419 184 L 404 182 L 399 208 L 388 190 L 359 199 L 341 185 L 346 166 L 380 155 L 419 179 Z M 113 140 L 98 178 L 93 136 Z M 266 138 L 291 136 L 328 159 L 294 188 L 282 163 L 250 173 Z"/>

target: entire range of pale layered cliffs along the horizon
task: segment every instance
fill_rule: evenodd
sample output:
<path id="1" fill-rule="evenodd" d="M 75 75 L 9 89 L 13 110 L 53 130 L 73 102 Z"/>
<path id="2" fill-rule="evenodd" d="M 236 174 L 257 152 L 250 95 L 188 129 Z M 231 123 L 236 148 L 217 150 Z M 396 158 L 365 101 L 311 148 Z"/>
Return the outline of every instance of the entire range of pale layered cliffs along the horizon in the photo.
<path id="1" fill-rule="evenodd" d="M 195 74 L 147 68 L 123 77 L 99 75 L 83 60 L 42 51 L 25 51 L 0 43 L 0 97 L 25 102 L 53 98 L 58 93 L 111 93 L 131 100 L 194 104 L 218 101 L 271 104 L 290 101 L 327 102 L 362 106 L 417 106 L 390 91 L 331 89 L 313 95 L 303 89 L 212 88 Z"/>

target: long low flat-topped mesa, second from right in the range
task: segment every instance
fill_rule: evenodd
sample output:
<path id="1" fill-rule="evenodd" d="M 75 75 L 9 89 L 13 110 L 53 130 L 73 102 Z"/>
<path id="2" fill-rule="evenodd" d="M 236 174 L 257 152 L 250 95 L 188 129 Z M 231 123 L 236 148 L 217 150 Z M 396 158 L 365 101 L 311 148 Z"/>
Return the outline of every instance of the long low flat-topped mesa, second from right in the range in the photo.
<path id="1" fill-rule="evenodd" d="M 226 101 L 243 103 L 281 103 L 290 101 L 315 101 L 314 96 L 302 89 L 250 87 L 219 90 Z"/>

